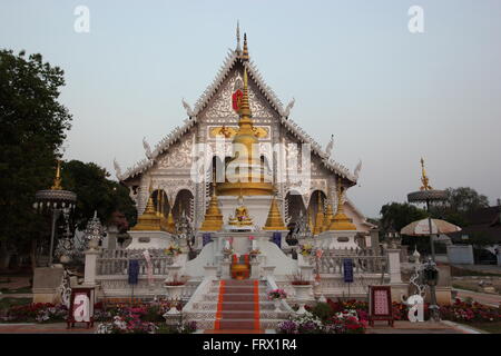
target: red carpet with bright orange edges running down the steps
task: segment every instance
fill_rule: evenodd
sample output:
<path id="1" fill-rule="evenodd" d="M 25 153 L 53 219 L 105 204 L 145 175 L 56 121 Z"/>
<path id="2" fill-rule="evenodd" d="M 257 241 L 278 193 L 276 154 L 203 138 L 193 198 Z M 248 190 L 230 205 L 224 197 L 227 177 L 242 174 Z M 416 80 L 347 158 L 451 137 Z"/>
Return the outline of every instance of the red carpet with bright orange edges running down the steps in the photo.
<path id="1" fill-rule="evenodd" d="M 214 330 L 207 333 L 259 333 L 259 281 L 229 279 L 219 281 Z"/>

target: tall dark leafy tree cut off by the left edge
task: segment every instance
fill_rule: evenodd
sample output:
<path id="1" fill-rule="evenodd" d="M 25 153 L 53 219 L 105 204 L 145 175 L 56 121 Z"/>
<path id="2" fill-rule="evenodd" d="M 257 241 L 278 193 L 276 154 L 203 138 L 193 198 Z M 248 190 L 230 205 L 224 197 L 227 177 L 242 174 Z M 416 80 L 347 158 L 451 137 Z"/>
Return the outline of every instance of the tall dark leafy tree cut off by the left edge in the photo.
<path id="1" fill-rule="evenodd" d="M 58 102 L 63 71 L 42 61 L 0 50 L 0 246 L 19 253 L 47 234 L 35 214 L 35 192 L 50 187 L 56 155 L 71 115 Z M 6 259 L 3 259 L 6 260 Z M 7 259 L 8 260 L 8 259 Z"/>

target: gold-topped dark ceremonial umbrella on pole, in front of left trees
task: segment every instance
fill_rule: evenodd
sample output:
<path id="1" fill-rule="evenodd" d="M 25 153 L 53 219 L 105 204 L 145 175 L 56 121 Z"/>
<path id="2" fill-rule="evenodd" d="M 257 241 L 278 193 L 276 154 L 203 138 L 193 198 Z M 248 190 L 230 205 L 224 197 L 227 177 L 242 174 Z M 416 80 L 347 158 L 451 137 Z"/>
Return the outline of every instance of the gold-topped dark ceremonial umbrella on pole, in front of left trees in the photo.
<path id="1" fill-rule="evenodd" d="M 61 161 L 58 160 L 56 178 L 50 189 L 39 190 L 35 195 L 33 208 L 38 211 L 49 210 L 52 214 L 50 230 L 49 267 L 52 266 L 53 240 L 56 236 L 56 221 L 61 212 L 69 214 L 75 209 L 77 195 L 61 187 Z"/>

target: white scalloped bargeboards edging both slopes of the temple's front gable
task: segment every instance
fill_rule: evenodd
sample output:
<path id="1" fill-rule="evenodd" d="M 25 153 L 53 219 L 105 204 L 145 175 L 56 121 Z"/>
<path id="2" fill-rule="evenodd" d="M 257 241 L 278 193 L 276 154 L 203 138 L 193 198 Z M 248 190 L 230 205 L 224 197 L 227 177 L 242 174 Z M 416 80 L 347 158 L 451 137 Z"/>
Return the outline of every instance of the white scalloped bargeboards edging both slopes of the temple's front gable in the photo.
<path id="1" fill-rule="evenodd" d="M 138 161 L 136 165 L 128 168 L 124 174 L 117 174 L 117 178 L 119 180 L 126 180 L 143 174 L 145 170 L 154 166 L 155 159 L 159 155 L 168 150 L 170 146 L 175 145 L 186 132 L 188 132 L 198 121 L 197 116 L 209 103 L 210 99 L 217 92 L 226 77 L 232 71 L 232 68 L 235 66 L 235 63 L 237 63 L 238 60 L 242 60 L 240 52 L 230 49 L 225 58 L 223 66 L 217 72 L 216 78 L 205 89 L 200 98 L 197 100 L 191 112 L 193 116 L 185 119 L 181 127 L 176 127 L 168 136 L 164 137 L 155 146 L 150 159 L 145 158 Z M 294 122 L 288 118 L 288 116 L 286 116 L 286 111 L 284 110 L 282 101 L 277 98 L 273 89 L 266 85 L 254 61 L 243 60 L 243 63 L 247 68 L 247 72 L 250 78 L 256 82 L 257 88 L 261 90 L 262 95 L 268 100 L 272 107 L 281 116 L 281 123 L 288 130 L 288 132 L 296 137 L 302 144 L 311 144 L 312 151 L 322 158 L 322 165 L 324 167 L 350 180 L 353 185 L 356 184 L 357 178 L 346 167 L 328 158 L 328 155 L 322 149 L 322 147 L 310 135 L 307 135 L 304 129 L 302 129 L 296 122 Z"/>

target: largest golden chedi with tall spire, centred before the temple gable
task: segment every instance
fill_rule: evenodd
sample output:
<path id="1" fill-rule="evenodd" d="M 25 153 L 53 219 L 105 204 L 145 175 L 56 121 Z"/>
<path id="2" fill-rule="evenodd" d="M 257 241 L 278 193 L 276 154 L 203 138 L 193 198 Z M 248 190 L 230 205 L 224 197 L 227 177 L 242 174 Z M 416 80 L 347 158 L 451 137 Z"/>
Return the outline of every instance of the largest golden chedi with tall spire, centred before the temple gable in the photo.
<path id="1" fill-rule="evenodd" d="M 217 192 L 220 196 L 271 196 L 273 185 L 265 181 L 264 167 L 257 152 L 258 139 L 252 120 L 247 69 L 244 70 L 244 89 L 238 113 L 238 131 L 233 139 L 234 157 L 226 166 L 226 179 L 218 185 Z"/>

